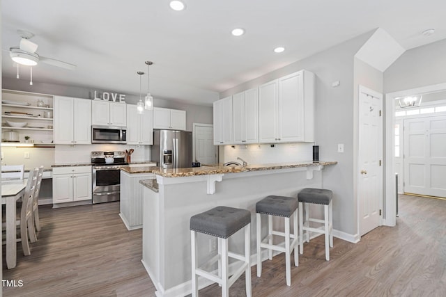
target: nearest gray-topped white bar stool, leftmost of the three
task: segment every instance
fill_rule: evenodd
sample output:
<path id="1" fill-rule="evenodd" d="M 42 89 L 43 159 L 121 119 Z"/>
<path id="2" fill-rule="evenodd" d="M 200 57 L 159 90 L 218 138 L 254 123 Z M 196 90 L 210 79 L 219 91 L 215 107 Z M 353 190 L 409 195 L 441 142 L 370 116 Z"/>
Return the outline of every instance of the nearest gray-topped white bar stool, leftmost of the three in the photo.
<path id="1" fill-rule="evenodd" d="M 228 251 L 228 239 L 245 227 L 245 255 Z M 198 233 L 217 237 L 218 254 L 206 264 L 218 262 L 218 275 L 198 267 L 197 236 Z M 229 287 L 245 272 L 246 295 L 251 296 L 251 213 L 246 209 L 233 207 L 215 207 L 190 218 L 190 235 L 192 250 L 192 296 L 198 296 L 198 277 L 207 278 L 222 286 L 222 296 L 229 296 Z M 229 257 L 238 259 L 243 265 L 229 278 Z"/>

